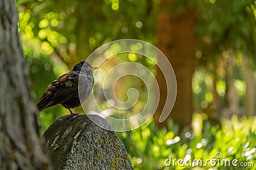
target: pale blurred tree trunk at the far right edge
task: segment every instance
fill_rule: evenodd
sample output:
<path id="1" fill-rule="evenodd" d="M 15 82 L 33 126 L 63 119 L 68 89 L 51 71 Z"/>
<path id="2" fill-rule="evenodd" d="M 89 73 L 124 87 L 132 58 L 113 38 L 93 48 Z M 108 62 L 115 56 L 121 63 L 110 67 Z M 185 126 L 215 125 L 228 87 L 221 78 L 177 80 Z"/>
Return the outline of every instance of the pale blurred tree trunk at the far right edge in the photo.
<path id="1" fill-rule="evenodd" d="M 243 57 L 243 77 L 246 83 L 246 94 L 244 99 L 245 115 L 253 116 L 256 113 L 256 85 L 252 69 L 252 61 L 248 59 L 248 57 Z"/>

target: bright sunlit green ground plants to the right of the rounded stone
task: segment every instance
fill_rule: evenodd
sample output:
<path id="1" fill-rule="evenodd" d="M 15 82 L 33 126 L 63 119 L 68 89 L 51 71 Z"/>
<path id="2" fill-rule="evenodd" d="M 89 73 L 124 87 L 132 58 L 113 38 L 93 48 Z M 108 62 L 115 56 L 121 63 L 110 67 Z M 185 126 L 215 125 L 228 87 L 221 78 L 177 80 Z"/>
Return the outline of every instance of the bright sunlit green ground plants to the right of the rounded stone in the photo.
<path id="1" fill-rule="evenodd" d="M 204 126 L 200 126 L 202 122 Z M 178 134 L 177 125 L 169 122 L 169 129 L 157 130 L 154 122 L 148 122 L 139 129 L 119 133 L 125 148 L 131 157 L 134 169 L 190 169 L 192 166 L 166 166 L 166 159 L 182 159 L 193 162 L 200 159 L 216 159 L 216 153 L 221 152 L 218 169 L 256 169 L 256 167 L 221 166 L 225 159 L 237 159 L 241 162 L 256 164 L 256 117 L 223 120 L 220 125 L 212 126 L 202 121 L 202 116 L 196 114 L 193 118 L 193 128 Z M 199 125 L 199 126 L 198 126 Z M 168 162 L 170 163 L 170 162 Z M 172 162 L 173 163 L 173 162 Z M 200 166 L 195 166 L 200 167 Z M 202 169 L 213 168 L 208 164 Z"/>

